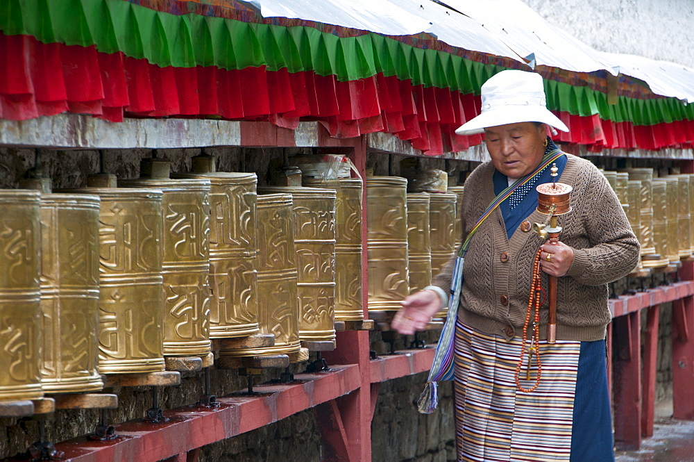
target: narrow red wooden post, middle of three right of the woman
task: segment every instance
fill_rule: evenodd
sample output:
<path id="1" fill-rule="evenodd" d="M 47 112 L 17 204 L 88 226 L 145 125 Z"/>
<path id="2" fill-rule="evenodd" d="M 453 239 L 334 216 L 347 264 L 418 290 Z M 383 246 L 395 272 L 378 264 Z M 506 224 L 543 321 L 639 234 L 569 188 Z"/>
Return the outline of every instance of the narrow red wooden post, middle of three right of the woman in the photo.
<path id="1" fill-rule="evenodd" d="M 660 305 L 648 308 L 643 345 L 643 377 L 641 377 L 641 434 L 653 436 L 655 383 L 658 366 L 658 327 Z"/>

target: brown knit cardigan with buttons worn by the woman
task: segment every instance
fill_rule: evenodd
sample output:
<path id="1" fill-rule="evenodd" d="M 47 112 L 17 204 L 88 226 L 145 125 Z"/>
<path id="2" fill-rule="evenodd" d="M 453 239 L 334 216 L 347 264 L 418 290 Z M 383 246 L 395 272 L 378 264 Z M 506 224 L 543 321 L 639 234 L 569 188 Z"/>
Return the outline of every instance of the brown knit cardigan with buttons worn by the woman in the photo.
<path id="1" fill-rule="evenodd" d="M 567 154 L 559 181 L 573 186 L 573 211 L 559 216 L 559 240 L 573 247 L 568 274 L 557 283 L 557 340 L 601 340 L 611 319 L 607 283 L 629 274 L 639 257 L 639 245 L 620 202 L 609 183 L 588 160 Z M 462 199 L 463 238 L 494 198 L 494 167 L 484 163 L 465 182 Z M 546 215 L 534 211 L 531 224 Z M 458 317 L 484 333 L 505 338 L 523 335 L 535 253 L 543 240 L 521 227 L 507 238 L 497 208 L 473 236 L 465 256 L 464 285 Z M 502 261 L 502 252 L 508 252 Z M 455 258 L 434 278 L 434 286 L 448 293 Z M 543 288 L 547 289 L 543 273 Z M 508 303 L 502 304 L 507 297 Z M 546 338 L 548 301 L 541 307 L 541 338 Z"/>

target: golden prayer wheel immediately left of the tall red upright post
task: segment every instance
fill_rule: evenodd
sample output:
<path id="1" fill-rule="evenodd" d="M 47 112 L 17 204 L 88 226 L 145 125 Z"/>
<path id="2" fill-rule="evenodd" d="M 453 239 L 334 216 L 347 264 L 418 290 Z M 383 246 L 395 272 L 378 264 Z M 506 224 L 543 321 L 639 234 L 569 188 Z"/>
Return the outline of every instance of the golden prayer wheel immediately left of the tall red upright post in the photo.
<path id="1" fill-rule="evenodd" d="M 362 180 L 303 180 L 312 188 L 335 189 L 335 320 L 364 319 L 362 304 Z"/>

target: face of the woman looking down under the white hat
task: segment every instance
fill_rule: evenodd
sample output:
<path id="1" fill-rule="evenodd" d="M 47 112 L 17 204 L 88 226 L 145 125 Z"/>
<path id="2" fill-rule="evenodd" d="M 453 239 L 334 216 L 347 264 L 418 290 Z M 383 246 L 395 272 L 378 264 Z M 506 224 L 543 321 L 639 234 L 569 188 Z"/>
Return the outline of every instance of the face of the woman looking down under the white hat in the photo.
<path id="1" fill-rule="evenodd" d="M 545 154 L 545 124 L 518 122 L 484 129 L 484 142 L 496 170 L 511 179 L 532 173 Z"/>

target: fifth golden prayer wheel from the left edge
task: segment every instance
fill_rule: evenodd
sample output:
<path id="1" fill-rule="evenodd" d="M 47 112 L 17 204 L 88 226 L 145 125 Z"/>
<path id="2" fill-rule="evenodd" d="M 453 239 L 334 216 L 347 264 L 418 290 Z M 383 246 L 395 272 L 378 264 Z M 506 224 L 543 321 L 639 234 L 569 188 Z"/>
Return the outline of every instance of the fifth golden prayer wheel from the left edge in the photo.
<path id="1" fill-rule="evenodd" d="M 210 181 L 210 338 L 260 332 L 257 307 L 255 173 L 176 174 Z"/>

